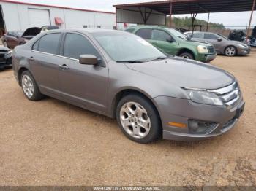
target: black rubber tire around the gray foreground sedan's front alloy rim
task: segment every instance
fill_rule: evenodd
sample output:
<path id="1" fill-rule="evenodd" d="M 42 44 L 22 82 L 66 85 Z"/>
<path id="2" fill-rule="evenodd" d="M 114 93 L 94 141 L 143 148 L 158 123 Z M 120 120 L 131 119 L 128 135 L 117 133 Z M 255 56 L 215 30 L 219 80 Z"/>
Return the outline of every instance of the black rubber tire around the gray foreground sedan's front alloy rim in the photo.
<path id="1" fill-rule="evenodd" d="M 143 138 L 139 139 L 139 138 L 130 136 L 129 133 L 127 133 L 126 130 L 124 130 L 123 126 L 121 125 L 121 120 L 120 120 L 121 108 L 122 106 L 124 106 L 124 104 L 127 104 L 128 102 L 136 102 L 140 104 L 140 106 L 143 106 L 144 109 L 146 109 L 147 115 L 151 122 L 151 126 L 148 134 Z M 121 98 L 116 108 L 116 120 L 118 122 L 119 128 L 121 128 L 121 131 L 124 133 L 124 135 L 127 136 L 128 139 L 138 142 L 140 144 L 148 144 L 151 141 L 156 141 L 162 135 L 162 125 L 159 119 L 159 114 L 157 112 L 157 109 L 155 109 L 154 105 L 151 104 L 151 102 L 148 101 L 148 98 L 144 97 L 143 95 L 130 94 L 130 95 L 126 95 L 124 98 Z"/>

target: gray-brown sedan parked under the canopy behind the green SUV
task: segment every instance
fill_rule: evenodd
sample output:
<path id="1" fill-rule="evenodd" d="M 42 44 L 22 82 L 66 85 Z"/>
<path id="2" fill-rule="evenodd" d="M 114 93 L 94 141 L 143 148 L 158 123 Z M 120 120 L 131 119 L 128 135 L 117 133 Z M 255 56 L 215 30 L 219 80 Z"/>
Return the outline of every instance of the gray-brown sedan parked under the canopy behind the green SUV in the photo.
<path id="1" fill-rule="evenodd" d="M 187 32 L 185 33 L 192 39 L 209 42 L 214 45 L 217 54 L 224 54 L 227 56 L 247 55 L 251 48 L 243 42 L 232 41 L 221 34 L 214 34 L 208 32 Z"/>

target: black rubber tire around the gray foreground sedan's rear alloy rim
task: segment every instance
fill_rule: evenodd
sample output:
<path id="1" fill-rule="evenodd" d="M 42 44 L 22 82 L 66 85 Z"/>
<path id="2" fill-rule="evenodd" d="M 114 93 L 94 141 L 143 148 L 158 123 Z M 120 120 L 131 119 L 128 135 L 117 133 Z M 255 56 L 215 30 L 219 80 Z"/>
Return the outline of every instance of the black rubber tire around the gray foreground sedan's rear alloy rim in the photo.
<path id="1" fill-rule="evenodd" d="M 34 87 L 34 92 L 32 93 L 31 97 L 28 96 L 26 93 L 25 93 L 25 90 L 23 88 L 23 77 L 24 76 L 28 76 L 30 79 L 31 79 L 31 82 L 33 84 L 33 87 Z M 41 100 L 42 98 L 44 98 L 45 96 L 42 95 L 42 93 L 40 93 L 39 91 L 39 88 L 37 86 L 37 82 L 34 80 L 34 77 L 32 76 L 32 74 L 29 72 L 29 71 L 23 71 L 23 73 L 21 74 L 21 77 L 20 77 L 20 84 L 21 84 L 21 88 L 23 90 L 23 93 L 24 95 L 26 96 L 26 98 L 28 98 L 29 100 L 31 101 L 39 101 Z"/>

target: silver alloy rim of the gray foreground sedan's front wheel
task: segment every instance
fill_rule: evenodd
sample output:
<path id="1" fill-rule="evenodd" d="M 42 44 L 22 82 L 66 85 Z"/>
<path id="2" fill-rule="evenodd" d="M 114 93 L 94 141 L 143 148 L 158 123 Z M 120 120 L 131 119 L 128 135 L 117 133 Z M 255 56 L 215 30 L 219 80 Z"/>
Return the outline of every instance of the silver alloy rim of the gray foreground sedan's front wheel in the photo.
<path id="1" fill-rule="evenodd" d="M 122 128 L 135 139 L 146 137 L 151 128 L 148 112 L 136 102 L 127 102 L 121 107 L 120 121 Z"/>

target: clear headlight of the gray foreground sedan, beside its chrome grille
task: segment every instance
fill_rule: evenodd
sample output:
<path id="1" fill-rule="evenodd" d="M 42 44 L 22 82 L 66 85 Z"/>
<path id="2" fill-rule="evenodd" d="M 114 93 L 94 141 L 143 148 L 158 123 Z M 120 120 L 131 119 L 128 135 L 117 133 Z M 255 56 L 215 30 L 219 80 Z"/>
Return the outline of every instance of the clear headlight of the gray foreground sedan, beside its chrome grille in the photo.
<path id="1" fill-rule="evenodd" d="M 198 104 L 208 104 L 214 106 L 223 106 L 221 99 L 211 92 L 205 90 L 187 90 L 192 101 Z"/>

